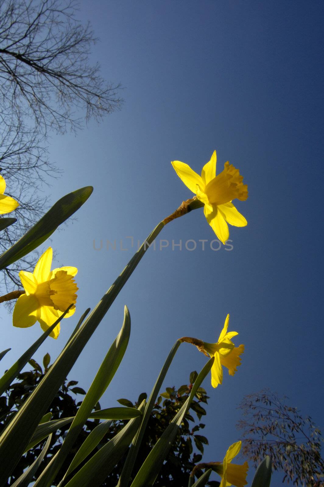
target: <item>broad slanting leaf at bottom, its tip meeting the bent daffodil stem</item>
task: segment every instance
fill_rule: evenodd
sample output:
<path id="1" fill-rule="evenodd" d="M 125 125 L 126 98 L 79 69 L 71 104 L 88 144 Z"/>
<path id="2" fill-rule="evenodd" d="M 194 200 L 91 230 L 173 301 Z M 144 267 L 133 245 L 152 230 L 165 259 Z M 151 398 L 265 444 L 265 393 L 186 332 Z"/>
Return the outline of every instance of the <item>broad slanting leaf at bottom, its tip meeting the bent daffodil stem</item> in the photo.
<path id="1" fill-rule="evenodd" d="M 139 406 L 144 410 L 145 399 Z M 80 468 L 65 487 L 98 487 L 121 459 L 141 422 L 140 417 L 131 419 L 106 445 L 100 448 L 88 462 Z"/>

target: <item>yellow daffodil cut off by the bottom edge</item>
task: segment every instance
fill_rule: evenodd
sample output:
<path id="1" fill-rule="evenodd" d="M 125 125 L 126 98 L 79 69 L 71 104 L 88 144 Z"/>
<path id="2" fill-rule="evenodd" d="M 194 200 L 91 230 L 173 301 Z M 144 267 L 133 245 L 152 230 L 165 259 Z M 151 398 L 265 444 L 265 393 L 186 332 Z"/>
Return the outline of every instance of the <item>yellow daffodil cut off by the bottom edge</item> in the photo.
<path id="1" fill-rule="evenodd" d="M 248 474 L 248 462 L 244 462 L 243 465 L 237 465 L 231 463 L 232 459 L 241 450 L 242 442 L 238 441 L 233 443 L 226 452 L 225 458 L 222 463 L 215 462 L 215 467 L 217 473 L 222 477 L 222 481 L 219 487 L 226 487 L 234 485 L 236 487 L 244 487 L 247 485 L 247 474 Z"/>

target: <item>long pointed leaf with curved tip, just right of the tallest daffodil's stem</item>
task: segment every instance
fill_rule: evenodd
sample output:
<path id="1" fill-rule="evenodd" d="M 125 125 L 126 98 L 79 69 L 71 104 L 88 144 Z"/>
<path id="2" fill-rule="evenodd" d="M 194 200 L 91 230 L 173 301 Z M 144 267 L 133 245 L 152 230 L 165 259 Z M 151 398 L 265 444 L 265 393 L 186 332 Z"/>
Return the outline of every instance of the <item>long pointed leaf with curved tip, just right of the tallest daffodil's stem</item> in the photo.
<path id="1" fill-rule="evenodd" d="M 58 450 L 57 454 L 52 458 L 50 463 L 39 476 L 38 480 L 35 483 L 35 487 L 52 485 L 52 482 L 56 477 L 58 470 L 64 462 L 67 454 L 73 447 L 78 434 L 83 428 L 84 423 L 91 415 L 95 404 L 98 402 L 102 394 L 106 391 L 108 385 L 114 377 L 114 374 L 118 369 L 119 364 L 126 351 L 130 333 L 131 318 L 127 306 L 125 306 L 123 326 L 118 336 L 114 340 L 114 343 L 110 347 L 107 355 L 105 356 L 102 364 L 100 365 L 100 368 L 95 375 L 93 383 L 91 384 L 89 391 L 85 395 L 82 404 L 76 413 L 76 416 L 62 443 L 61 448 Z M 75 337 L 77 337 L 77 335 L 78 333 L 76 333 Z M 69 346 L 69 344 L 67 346 Z M 97 413 L 97 411 L 95 413 Z"/>

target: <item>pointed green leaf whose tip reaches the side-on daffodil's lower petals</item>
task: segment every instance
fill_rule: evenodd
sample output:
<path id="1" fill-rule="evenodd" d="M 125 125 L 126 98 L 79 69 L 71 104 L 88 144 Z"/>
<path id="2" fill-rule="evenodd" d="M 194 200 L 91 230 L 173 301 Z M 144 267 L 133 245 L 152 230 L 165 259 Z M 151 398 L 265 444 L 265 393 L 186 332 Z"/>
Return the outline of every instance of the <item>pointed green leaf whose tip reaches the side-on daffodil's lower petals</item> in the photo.
<path id="1" fill-rule="evenodd" d="M 193 400 L 198 387 L 200 387 L 200 384 L 209 373 L 213 362 L 214 357 L 210 358 L 210 360 L 206 363 L 201 372 L 198 374 L 198 377 L 196 378 L 192 386 L 191 393 L 188 399 L 182 405 L 181 409 L 176 413 L 167 429 L 162 433 L 162 436 L 157 440 L 156 444 L 146 457 L 143 465 L 137 472 L 137 475 L 134 478 L 131 487 L 151 487 L 155 482 L 160 468 L 162 467 L 166 456 L 171 448 L 172 442 L 177 432 L 179 431 L 183 417 L 188 411 L 191 401 Z"/>

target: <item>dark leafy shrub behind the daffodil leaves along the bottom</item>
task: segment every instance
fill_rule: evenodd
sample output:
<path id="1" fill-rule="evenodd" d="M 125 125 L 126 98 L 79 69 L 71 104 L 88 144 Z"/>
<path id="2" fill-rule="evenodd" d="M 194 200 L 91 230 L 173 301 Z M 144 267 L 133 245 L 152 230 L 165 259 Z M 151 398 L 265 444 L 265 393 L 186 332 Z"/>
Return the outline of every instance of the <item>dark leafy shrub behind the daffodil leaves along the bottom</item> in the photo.
<path id="1" fill-rule="evenodd" d="M 0 397 L 0 433 L 3 431 L 5 426 L 11 420 L 15 412 L 19 410 L 19 407 L 24 403 L 24 401 L 33 392 L 41 378 L 50 368 L 50 356 L 46 354 L 43 359 L 43 367 L 41 367 L 35 360 L 30 360 L 29 362 L 33 370 L 29 372 L 22 372 L 18 375 L 17 381 L 13 383 L 6 393 Z M 197 377 L 196 372 L 192 372 L 190 375 L 189 385 L 182 385 L 178 389 L 175 387 L 167 387 L 166 391 L 162 393 L 153 408 L 151 418 L 148 423 L 146 433 L 143 438 L 142 447 L 140 449 L 138 458 L 136 460 L 133 475 L 136 474 L 139 467 L 144 462 L 145 458 L 151 451 L 152 447 L 155 445 L 156 441 L 159 439 L 163 431 L 167 428 L 170 421 L 176 412 L 179 411 L 182 404 L 187 399 L 192 383 Z M 85 391 L 77 386 L 78 382 L 75 380 L 65 380 L 60 387 L 54 401 L 49 407 L 47 412 L 52 413 L 51 419 L 59 419 L 68 416 L 75 416 L 78 407 L 81 402 L 76 402 L 74 398 L 76 394 L 85 394 Z M 144 398 L 147 397 L 146 393 L 141 393 L 134 403 L 128 399 L 119 399 L 118 402 L 121 405 L 137 408 Z M 181 425 L 180 431 L 172 444 L 172 448 L 168 454 L 166 462 L 164 463 L 158 478 L 154 486 L 170 486 L 170 487 L 181 487 L 188 485 L 189 475 L 193 467 L 201 462 L 202 454 L 204 452 L 204 445 L 208 445 L 208 439 L 203 436 L 200 430 L 202 430 L 205 425 L 200 423 L 202 416 L 206 414 L 203 404 L 207 404 L 209 397 L 206 394 L 205 389 L 199 388 L 195 400 L 191 404 L 191 411 L 189 411 Z M 96 405 L 95 409 L 101 409 L 99 403 Z M 192 415 L 192 413 L 194 415 Z M 198 422 L 195 423 L 196 416 Z M 121 428 L 126 424 L 127 421 L 114 421 L 112 427 L 110 428 L 108 434 L 101 440 L 98 447 L 94 450 L 93 454 L 103 446 L 103 444 L 109 441 L 114 435 L 121 430 Z M 81 444 L 88 436 L 88 434 L 95 428 L 99 423 L 98 419 L 88 420 L 85 427 L 77 438 L 76 444 L 73 450 L 70 452 L 66 462 L 61 468 L 54 485 L 57 485 L 63 476 L 63 473 L 67 470 L 69 464 L 71 463 L 76 451 L 80 448 Z M 50 449 L 44 458 L 41 467 L 38 470 L 39 473 L 45 468 L 49 463 L 53 455 L 60 448 L 60 445 L 64 439 L 66 431 L 69 429 L 69 425 L 64 426 L 62 429 L 58 430 L 56 434 L 53 434 L 52 443 Z M 29 467 L 33 461 L 40 454 L 45 440 L 40 444 L 36 445 L 34 448 L 29 450 L 19 461 L 13 471 L 10 481 L 8 481 L 8 486 L 12 485 L 14 481 L 21 475 L 23 470 Z M 85 460 L 87 461 L 90 456 Z M 125 455 L 126 458 L 126 455 Z M 119 464 L 111 472 L 107 480 L 102 484 L 102 486 L 113 486 L 117 484 L 119 474 L 123 467 L 125 458 L 123 458 Z M 80 464 L 79 468 L 84 465 L 85 461 Z M 199 475 L 201 471 L 199 472 Z M 210 486 L 218 486 L 218 482 L 210 481 Z"/>

